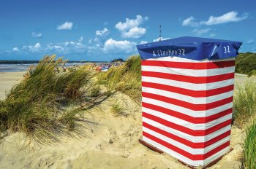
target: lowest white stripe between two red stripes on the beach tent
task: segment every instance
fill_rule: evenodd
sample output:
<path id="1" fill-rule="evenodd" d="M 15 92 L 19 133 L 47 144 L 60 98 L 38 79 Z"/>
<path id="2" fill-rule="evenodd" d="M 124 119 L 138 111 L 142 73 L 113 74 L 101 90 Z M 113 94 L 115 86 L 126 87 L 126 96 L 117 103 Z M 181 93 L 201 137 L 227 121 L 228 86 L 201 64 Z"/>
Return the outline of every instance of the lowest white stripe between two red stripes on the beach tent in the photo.
<path id="1" fill-rule="evenodd" d="M 143 127 L 143 131 L 148 133 L 148 134 L 150 134 L 150 135 L 155 136 L 156 138 L 161 139 L 162 141 L 167 142 L 168 144 L 172 144 L 173 146 L 176 146 L 179 149 L 183 149 L 184 151 L 186 151 L 186 152 L 188 152 L 190 154 L 206 154 L 206 153 L 210 152 L 211 150 L 217 148 L 218 146 L 221 146 L 222 144 L 225 144 L 227 141 L 230 141 L 230 135 L 229 135 L 229 136 L 227 136 L 225 138 L 222 138 L 222 140 L 217 141 L 216 143 L 211 144 L 210 146 L 207 146 L 207 147 L 205 147 L 203 149 L 193 149 L 190 146 L 186 146 L 185 144 L 181 144 L 178 141 L 175 141 L 175 140 L 173 140 L 171 138 L 168 138 L 165 135 L 157 133 L 157 132 L 155 132 L 153 130 L 150 130 L 150 129 L 146 128 L 146 127 Z"/>

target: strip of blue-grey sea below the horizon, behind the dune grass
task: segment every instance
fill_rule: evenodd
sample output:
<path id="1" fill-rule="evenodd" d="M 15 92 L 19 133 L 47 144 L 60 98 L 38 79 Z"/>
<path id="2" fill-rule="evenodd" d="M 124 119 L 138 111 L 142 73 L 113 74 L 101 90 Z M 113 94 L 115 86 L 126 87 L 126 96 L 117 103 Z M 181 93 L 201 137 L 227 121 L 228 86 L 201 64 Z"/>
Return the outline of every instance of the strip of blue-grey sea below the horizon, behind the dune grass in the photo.
<path id="1" fill-rule="evenodd" d="M 66 63 L 65 66 L 83 65 L 84 63 Z M 0 63 L 0 71 L 26 71 L 29 66 L 37 66 L 37 63 Z"/>

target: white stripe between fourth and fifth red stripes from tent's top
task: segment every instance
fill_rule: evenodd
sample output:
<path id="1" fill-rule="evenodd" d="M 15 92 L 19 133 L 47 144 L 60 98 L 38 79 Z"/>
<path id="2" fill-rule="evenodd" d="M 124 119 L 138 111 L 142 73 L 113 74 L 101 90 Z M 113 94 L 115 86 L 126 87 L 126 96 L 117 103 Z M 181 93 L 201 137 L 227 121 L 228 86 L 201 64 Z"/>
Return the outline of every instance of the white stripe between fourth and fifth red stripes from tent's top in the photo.
<path id="1" fill-rule="evenodd" d="M 233 102 L 230 102 L 230 103 L 227 103 L 225 105 L 222 105 L 222 106 L 219 106 L 217 108 L 214 108 L 214 109 L 209 109 L 209 110 L 204 110 L 204 111 L 194 111 L 194 110 L 190 110 L 190 109 L 187 109 L 187 108 L 184 108 L 184 107 L 181 107 L 181 106 L 176 106 L 174 104 L 171 104 L 171 103 L 165 103 L 164 101 L 158 101 L 158 100 L 155 100 L 155 99 L 152 99 L 152 98 L 145 98 L 145 97 L 142 97 L 142 101 L 144 103 L 150 103 L 150 104 L 154 104 L 156 106 L 160 106 L 160 107 L 164 107 L 166 109 L 170 109 L 170 110 L 173 110 L 173 111 L 178 111 L 182 114 L 187 114 L 191 117 L 208 117 L 208 116 L 211 116 L 213 114 L 217 114 L 221 111 L 224 111 L 224 110 L 227 110 L 227 109 L 230 109 L 233 107 Z"/>

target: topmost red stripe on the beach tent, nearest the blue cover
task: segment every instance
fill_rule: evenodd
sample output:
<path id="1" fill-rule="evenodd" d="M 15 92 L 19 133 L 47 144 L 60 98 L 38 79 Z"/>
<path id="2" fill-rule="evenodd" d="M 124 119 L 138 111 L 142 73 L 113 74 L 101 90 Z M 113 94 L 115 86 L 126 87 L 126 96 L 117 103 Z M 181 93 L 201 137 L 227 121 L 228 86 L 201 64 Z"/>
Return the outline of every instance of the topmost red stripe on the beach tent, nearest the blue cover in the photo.
<path id="1" fill-rule="evenodd" d="M 170 68 L 186 68 L 194 70 L 212 69 L 212 68 L 225 68 L 235 66 L 235 60 L 227 60 L 221 62 L 208 62 L 208 63 L 191 63 L 191 62 L 171 62 L 159 60 L 143 60 L 143 66 L 163 66 Z"/>

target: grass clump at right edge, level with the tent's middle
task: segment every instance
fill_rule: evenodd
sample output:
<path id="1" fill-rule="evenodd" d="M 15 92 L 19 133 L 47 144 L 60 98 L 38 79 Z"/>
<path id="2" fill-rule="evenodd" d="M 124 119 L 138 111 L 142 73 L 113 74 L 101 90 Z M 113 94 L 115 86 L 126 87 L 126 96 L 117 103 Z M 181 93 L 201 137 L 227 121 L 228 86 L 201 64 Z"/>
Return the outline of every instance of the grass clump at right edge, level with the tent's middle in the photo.
<path id="1" fill-rule="evenodd" d="M 239 86 L 235 91 L 233 103 L 234 124 L 244 127 L 256 114 L 256 82 L 248 79 L 243 86 Z"/>

